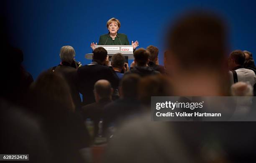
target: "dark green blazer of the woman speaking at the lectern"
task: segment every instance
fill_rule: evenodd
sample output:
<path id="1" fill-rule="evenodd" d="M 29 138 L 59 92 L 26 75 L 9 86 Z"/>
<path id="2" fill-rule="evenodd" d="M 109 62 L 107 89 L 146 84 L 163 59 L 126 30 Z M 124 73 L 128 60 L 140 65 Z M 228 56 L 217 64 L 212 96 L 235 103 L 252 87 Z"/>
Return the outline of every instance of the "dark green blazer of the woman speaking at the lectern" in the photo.
<path id="1" fill-rule="evenodd" d="M 98 45 L 131 45 L 129 43 L 127 35 L 123 33 L 118 33 L 118 37 L 115 37 L 115 40 L 112 40 L 112 38 L 108 34 L 101 35 Z"/>

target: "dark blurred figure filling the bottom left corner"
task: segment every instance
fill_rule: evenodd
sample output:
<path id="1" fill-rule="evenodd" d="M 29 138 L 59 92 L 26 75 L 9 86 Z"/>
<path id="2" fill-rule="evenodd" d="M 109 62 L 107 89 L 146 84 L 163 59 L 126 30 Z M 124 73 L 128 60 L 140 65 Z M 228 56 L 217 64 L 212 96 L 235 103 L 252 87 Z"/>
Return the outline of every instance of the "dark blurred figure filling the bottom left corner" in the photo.
<path id="1" fill-rule="evenodd" d="M 30 163 L 50 162 L 48 142 L 44 138 L 38 121 L 23 108 L 1 98 L 0 124 L 2 132 L 0 135 L 0 153 L 29 154 Z M 15 162 L 26 161 L 16 160 Z"/>

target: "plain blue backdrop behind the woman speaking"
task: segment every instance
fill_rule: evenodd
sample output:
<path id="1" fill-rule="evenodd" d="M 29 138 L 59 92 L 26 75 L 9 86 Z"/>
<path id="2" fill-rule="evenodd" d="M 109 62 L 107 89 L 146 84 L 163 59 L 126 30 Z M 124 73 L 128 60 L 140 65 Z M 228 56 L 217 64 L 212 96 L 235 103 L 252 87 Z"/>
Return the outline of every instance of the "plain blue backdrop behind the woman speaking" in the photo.
<path id="1" fill-rule="evenodd" d="M 256 53 L 255 2 L 242 0 L 168 0 L 168 1 L 75 1 L 17 0 L 7 1 L 5 13 L 11 31 L 10 40 L 24 53 L 24 67 L 35 79 L 43 70 L 59 64 L 59 50 L 71 45 L 82 64 L 90 53 L 91 42 L 108 33 L 106 22 L 118 18 L 119 33 L 138 40 L 140 47 L 155 45 L 163 63 L 163 36 L 167 22 L 193 8 L 211 10 L 223 15 L 230 29 L 230 50 Z M 255 55 L 254 55 L 255 57 Z"/>

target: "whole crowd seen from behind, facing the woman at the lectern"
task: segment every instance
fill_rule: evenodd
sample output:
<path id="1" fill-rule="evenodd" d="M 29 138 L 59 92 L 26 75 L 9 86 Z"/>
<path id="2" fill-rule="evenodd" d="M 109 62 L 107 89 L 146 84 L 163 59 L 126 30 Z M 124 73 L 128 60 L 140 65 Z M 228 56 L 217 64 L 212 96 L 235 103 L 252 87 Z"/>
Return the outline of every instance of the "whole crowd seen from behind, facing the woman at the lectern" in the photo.
<path id="1" fill-rule="evenodd" d="M 30 152 L 31 159 L 47 156 L 37 162 L 95 162 L 90 147 L 100 137 L 108 142 L 100 160 L 106 163 L 247 162 L 255 156 L 254 123 L 150 120 L 151 96 L 256 95 L 252 54 L 235 50 L 227 56 L 226 47 L 221 20 L 196 13 L 182 17 L 166 33 L 164 66 L 159 65 L 159 50 L 153 45 L 135 50 L 130 67 L 121 53 L 113 55 L 110 63 L 102 47 L 93 51 L 92 63 L 80 66 L 74 48 L 63 46 L 61 63 L 35 82 L 17 62 L 17 69 L 9 71 L 18 75 L 10 78 L 22 81 L 20 88 L 26 91 L 6 82 L 13 89 L 1 93 L 1 108 L 23 108 L 32 117 L 31 130 L 38 130 L 40 141 L 23 142 L 37 150 L 8 152 Z M 11 93 L 17 91 L 20 99 L 11 100 Z M 20 126 L 29 130 L 25 123 Z M 3 144 L 3 148 L 11 145 Z"/>

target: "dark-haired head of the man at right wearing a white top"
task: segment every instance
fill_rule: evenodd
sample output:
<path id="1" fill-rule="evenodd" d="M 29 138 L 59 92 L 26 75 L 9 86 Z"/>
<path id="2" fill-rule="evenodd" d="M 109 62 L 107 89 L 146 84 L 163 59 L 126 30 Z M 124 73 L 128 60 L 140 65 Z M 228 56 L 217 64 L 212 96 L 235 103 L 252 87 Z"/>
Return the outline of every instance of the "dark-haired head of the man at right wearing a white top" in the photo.
<path id="1" fill-rule="evenodd" d="M 228 68 L 229 70 L 233 70 L 233 68 L 237 66 L 241 66 L 244 64 L 245 54 L 241 50 L 234 50 L 230 53 L 228 57 Z"/>

